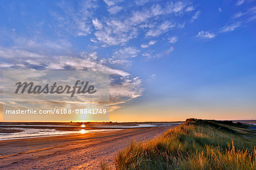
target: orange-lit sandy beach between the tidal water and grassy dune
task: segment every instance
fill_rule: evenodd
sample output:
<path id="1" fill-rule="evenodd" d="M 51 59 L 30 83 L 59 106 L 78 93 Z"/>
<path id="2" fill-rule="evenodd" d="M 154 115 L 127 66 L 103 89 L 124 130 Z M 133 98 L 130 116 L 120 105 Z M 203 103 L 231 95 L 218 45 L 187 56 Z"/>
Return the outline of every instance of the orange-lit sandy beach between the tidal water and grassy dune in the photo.
<path id="1" fill-rule="evenodd" d="M 113 164 L 118 150 L 132 140 L 142 141 L 169 128 L 127 128 L 106 132 L 0 141 L 1 169 L 100 169 Z"/>

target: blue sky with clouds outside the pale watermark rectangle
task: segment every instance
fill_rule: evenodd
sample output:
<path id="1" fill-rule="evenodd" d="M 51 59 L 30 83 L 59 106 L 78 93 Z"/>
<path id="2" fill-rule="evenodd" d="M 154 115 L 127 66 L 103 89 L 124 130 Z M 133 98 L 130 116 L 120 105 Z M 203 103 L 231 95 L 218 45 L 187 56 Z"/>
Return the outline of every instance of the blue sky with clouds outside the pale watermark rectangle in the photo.
<path id="1" fill-rule="evenodd" d="M 110 74 L 110 121 L 256 119 L 256 1 L 0 1 L 0 69 Z"/>

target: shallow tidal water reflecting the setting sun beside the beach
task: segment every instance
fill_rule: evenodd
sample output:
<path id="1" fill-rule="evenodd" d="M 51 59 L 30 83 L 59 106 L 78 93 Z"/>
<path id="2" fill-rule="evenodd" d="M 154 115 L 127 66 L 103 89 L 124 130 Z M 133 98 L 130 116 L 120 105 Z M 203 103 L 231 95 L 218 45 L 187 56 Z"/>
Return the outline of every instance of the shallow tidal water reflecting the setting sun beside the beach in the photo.
<path id="1" fill-rule="evenodd" d="M 122 130 L 124 128 L 143 128 L 143 127 L 164 127 L 173 126 L 180 123 L 148 123 L 148 124 L 120 124 L 120 125 L 59 125 L 59 124 L 33 124 L 33 123 L 0 123 L 0 140 L 40 138 L 46 136 L 60 136 L 71 134 L 85 134 L 88 132 L 104 132 Z M 87 128 L 87 129 L 86 129 Z M 90 129 L 88 128 L 95 128 Z M 63 130 L 65 129 L 65 130 Z M 6 133 L 3 131 L 11 131 Z M 2 132 L 1 132 L 2 131 Z"/>

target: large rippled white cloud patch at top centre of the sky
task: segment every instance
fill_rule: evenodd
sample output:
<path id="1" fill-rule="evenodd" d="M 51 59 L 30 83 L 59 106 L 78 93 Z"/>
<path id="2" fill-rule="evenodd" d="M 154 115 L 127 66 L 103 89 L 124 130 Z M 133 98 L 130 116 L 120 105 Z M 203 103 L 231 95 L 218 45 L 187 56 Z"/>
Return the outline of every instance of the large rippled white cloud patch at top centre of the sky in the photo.
<path id="1" fill-rule="evenodd" d="M 146 2 L 143 1 L 143 3 Z M 109 12 L 115 17 L 111 15 L 113 17 L 98 18 L 98 22 L 102 24 L 102 27 L 95 27 L 96 20 L 93 20 L 94 27 L 96 28 L 94 36 L 103 47 L 125 45 L 130 39 L 137 38 L 141 32 L 146 36 L 159 36 L 171 30 L 171 28 L 183 28 L 185 23 L 176 24 L 176 17 L 178 18 L 184 13 L 195 9 L 191 3 L 187 2 L 153 2 L 149 7 L 142 6 L 139 10 L 136 10 L 138 6 L 133 6 L 133 8 L 131 6 L 127 7 L 130 8 L 129 15 L 123 15 L 122 13 L 118 15 L 119 13 L 115 13 L 122 8 L 121 4 L 118 4 L 119 1 L 108 0 L 105 3 L 109 6 Z M 139 5 L 142 2 L 136 3 Z M 172 22 L 170 19 L 166 19 L 168 15 L 172 15 Z M 199 15 L 199 12 L 196 15 Z M 93 40 L 93 42 L 95 41 Z"/>

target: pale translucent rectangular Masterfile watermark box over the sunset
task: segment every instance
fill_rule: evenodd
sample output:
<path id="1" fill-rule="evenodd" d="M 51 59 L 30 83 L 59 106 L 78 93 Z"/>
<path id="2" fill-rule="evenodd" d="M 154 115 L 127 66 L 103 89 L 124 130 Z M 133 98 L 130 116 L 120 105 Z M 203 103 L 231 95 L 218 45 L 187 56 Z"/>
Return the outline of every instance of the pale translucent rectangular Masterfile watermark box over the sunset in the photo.
<path id="1" fill-rule="evenodd" d="M 3 121 L 109 121 L 109 74 L 3 71 Z"/>

